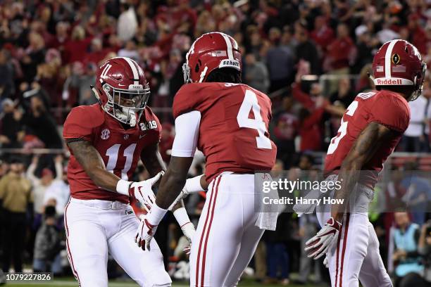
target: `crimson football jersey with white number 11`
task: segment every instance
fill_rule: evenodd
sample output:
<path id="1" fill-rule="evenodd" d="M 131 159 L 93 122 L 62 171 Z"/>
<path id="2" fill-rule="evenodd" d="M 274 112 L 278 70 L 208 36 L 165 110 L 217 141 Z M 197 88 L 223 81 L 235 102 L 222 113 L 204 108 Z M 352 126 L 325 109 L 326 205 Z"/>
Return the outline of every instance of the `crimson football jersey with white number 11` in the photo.
<path id="1" fill-rule="evenodd" d="M 142 150 L 146 146 L 157 144 L 160 134 L 160 122 L 150 108 L 145 108 L 135 127 L 124 129 L 120 122 L 106 114 L 98 103 L 73 108 L 63 129 L 66 142 L 70 139 L 89 141 L 104 160 L 106 170 L 125 180 L 132 177 Z M 129 201 L 127 196 L 94 185 L 73 153 L 68 164 L 68 181 L 73 198 L 118 200 L 123 203 Z"/>

